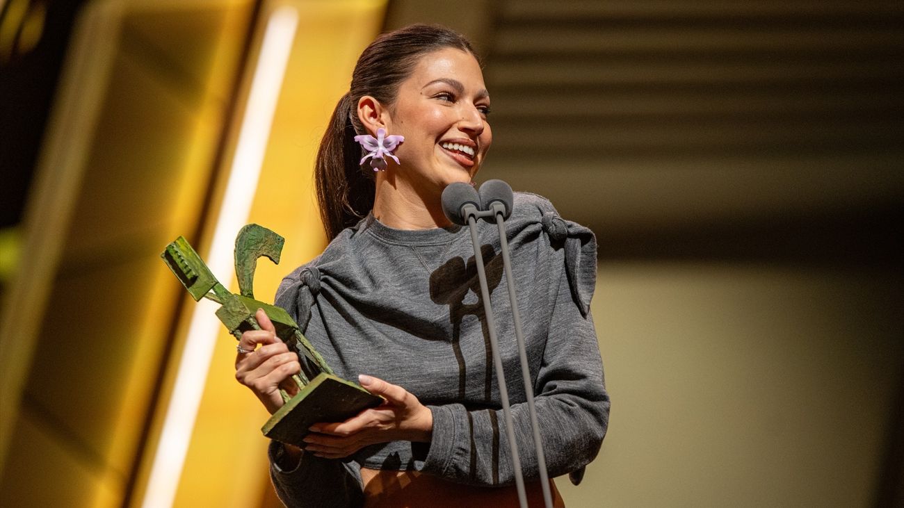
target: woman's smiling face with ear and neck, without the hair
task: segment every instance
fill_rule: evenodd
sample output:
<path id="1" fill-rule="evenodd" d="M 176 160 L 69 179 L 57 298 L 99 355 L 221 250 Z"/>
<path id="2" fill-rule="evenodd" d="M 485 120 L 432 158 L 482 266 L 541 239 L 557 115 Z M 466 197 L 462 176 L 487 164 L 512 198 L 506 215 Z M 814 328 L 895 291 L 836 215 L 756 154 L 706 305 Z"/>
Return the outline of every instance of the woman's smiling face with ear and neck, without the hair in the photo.
<path id="1" fill-rule="evenodd" d="M 449 183 L 470 182 L 480 169 L 493 142 L 489 103 L 476 58 L 453 48 L 420 59 L 394 102 L 359 99 L 365 129 L 386 127 L 405 137 L 398 150 L 404 163 L 377 174 L 374 217 L 397 229 L 448 225 L 444 215 L 422 212 Z"/>

